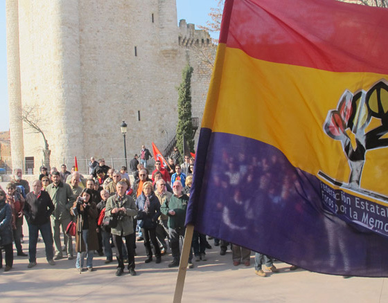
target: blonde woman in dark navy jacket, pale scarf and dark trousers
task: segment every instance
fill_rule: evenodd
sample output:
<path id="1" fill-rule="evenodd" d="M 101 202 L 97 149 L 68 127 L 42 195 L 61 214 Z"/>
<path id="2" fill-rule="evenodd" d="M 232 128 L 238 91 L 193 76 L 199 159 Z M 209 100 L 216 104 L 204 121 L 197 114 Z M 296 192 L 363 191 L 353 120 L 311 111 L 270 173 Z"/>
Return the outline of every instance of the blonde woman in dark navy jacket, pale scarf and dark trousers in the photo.
<path id="1" fill-rule="evenodd" d="M 152 261 L 152 242 L 155 249 L 155 257 L 157 258 L 156 263 L 159 264 L 161 262 L 161 252 L 157 241 L 156 228 L 161 212 L 160 202 L 155 195 L 152 182 L 148 181 L 143 184 L 143 192 L 137 197 L 136 205 L 139 209 L 136 218 L 138 219 L 141 233 L 144 237 L 145 252 L 147 253 L 145 263 Z"/>

